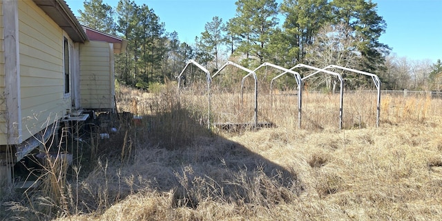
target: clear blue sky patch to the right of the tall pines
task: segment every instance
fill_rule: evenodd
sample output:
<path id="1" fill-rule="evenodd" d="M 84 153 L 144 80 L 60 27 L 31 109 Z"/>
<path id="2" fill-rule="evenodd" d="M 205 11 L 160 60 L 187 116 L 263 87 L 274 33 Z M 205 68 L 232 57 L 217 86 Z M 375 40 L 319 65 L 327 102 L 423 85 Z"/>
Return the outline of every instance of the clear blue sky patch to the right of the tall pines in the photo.
<path id="1" fill-rule="evenodd" d="M 378 14 L 387 23 L 379 41 L 398 56 L 442 60 L 441 0 L 375 0 Z"/>

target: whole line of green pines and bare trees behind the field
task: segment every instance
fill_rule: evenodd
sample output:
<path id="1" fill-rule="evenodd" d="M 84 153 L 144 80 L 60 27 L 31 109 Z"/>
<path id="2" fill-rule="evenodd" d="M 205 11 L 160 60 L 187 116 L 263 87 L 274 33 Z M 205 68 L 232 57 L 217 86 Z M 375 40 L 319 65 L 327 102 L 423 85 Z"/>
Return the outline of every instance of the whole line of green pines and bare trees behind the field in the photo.
<path id="1" fill-rule="evenodd" d="M 166 32 L 152 8 L 131 0 L 120 0 L 116 8 L 102 0 L 85 0 L 79 21 L 128 40 L 126 52 L 116 55 L 115 73 L 118 81 L 144 89 L 175 78 L 193 59 L 211 71 L 227 60 L 252 69 L 264 62 L 283 67 L 333 64 L 378 74 L 384 90 L 441 90 L 440 60 L 407 61 L 390 55 L 391 48 L 379 42 L 387 24 L 372 1 L 238 0 L 235 4 L 235 17 L 222 21 L 214 16 L 194 43 L 180 42 L 177 32 Z M 346 79 L 352 87 L 365 82 L 361 76 Z M 331 81 L 330 77 L 324 87 Z"/>

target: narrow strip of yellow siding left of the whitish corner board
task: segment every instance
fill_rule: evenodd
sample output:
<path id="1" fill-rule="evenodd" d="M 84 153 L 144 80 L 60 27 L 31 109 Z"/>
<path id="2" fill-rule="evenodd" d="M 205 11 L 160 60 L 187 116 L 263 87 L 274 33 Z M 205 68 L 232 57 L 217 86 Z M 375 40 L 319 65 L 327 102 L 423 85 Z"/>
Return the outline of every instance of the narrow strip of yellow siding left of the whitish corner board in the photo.
<path id="1" fill-rule="evenodd" d="M 3 47 L 3 3 L 0 1 L 0 145 L 6 142 L 5 53 Z M 2 141 L 5 140 L 5 141 Z"/>

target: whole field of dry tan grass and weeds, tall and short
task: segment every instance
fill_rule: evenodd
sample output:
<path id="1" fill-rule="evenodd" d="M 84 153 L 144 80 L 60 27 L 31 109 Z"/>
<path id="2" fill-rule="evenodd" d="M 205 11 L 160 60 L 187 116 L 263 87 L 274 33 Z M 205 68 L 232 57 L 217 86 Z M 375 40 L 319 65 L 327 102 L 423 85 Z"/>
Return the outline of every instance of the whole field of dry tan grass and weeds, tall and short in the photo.
<path id="1" fill-rule="evenodd" d="M 119 87 L 119 131 L 100 140 L 90 173 L 66 184 L 64 207 L 48 199 L 3 200 L 5 219 L 25 220 L 439 220 L 441 99 L 374 93 L 260 96 L 274 128 L 226 132 L 212 122 L 253 120 L 253 95 L 212 90 L 155 93 Z M 135 98 L 135 99 L 134 99 Z M 273 105 L 271 105 L 273 101 Z M 78 170 L 78 168 L 77 168 Z M 76 171 L 76 170 L 73 170 Z M 11 200 L 12 199 L 12 200 Z M 29 203 L 28 201 L 32 202 Z M 52 202 L 52 204 L 51 204 Z M 51 214 L 44 214 L 48 207 Z M 46 209 L 46 210 L 42 210 Z M 54 212 L 55 211 L 55 212 Z"/>

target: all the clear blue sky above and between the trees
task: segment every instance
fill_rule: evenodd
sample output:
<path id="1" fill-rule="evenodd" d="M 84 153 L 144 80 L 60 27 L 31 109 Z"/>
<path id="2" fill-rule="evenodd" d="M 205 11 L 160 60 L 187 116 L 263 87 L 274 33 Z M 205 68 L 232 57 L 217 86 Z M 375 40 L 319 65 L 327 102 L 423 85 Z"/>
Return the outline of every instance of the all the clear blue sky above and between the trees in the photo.
<path id="1" fill-rule="evenodd" d="M 118 0 L 103 0 L 117 6 Z M 282 0 L 277 0 L 281 2 Z M 83 8 L 82 0 L 66 0 L 74 14 Z M 236 14 L 236 0 L 135 0 L 155 11 L 166 31 L 178 33 L 180 41 L 194 43 L 204 25 L 218 16 L 228 21 Z M 442 59 L 442 0 L 373 0 L 378 14 L 387 23 L 379 39 L 392 48 L 397 56 L 408 59 Z M 282 22 L 282 21 L 280 21 Z"/>

